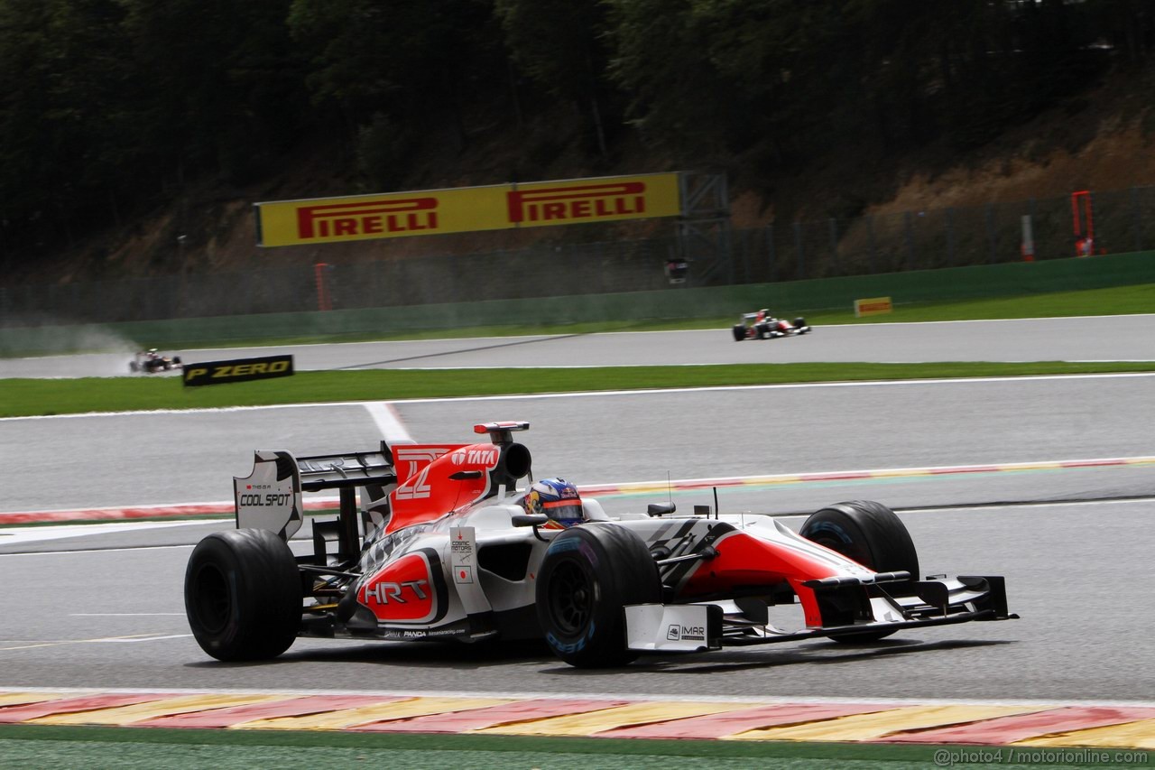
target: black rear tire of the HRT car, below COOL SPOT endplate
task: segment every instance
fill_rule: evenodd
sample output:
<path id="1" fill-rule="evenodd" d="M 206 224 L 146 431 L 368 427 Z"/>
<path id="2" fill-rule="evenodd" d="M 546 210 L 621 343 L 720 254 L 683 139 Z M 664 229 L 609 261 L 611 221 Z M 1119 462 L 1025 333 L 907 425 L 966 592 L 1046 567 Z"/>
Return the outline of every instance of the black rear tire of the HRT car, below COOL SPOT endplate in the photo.
<path id="1" fill-rule="evenodd" d="M 185 614 L 196 643 L 217 660 L 275 658 L 300 628 L 297 560 L 267 530 L 215 532 L 188 558 Z"/>

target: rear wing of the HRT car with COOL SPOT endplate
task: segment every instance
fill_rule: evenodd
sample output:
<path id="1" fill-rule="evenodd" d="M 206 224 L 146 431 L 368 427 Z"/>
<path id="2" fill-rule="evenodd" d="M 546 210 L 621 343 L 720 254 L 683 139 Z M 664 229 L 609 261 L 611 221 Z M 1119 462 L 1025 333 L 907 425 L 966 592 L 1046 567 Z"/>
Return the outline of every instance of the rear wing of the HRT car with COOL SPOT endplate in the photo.
<path id="1" fill-rule="evenodd" d="M 268 530 L 289 540 L 303 520 L 301 493 L 341 490 L 342 502 L 362 490 L 362 506 L 371 518 L 387 518 L 389 493 L 397 484 L 388 444 L 368 452 L 293 457 L 290 452 L 258 451 L 253 472 L 233 477 L 237 528 Z"/>

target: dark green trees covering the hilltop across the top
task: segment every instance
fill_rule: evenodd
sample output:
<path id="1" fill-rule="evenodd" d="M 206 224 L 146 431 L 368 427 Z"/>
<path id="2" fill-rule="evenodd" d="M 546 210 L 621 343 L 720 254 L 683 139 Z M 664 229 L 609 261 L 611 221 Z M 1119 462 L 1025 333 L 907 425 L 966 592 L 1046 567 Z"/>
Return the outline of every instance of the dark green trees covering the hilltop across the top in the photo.
<path id="1" fill-rule="evenodd" d="M 1153 47 L 1147 0 L 0 0 L 0 260 L 311 138 L 383 190 L 559 106 L 608 165 L 962 150 Z"/>

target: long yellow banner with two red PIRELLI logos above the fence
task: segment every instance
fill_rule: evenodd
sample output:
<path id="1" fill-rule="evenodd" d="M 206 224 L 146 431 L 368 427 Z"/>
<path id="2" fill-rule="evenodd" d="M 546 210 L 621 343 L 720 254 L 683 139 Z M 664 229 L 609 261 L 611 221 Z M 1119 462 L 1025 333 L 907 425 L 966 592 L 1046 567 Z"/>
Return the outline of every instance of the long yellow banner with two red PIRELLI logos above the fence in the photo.
<path id="1" fill-rule="evenodd" d="M 255 203 L 262 246 L 341 243 L 681 213 L 678 173 Z"/>

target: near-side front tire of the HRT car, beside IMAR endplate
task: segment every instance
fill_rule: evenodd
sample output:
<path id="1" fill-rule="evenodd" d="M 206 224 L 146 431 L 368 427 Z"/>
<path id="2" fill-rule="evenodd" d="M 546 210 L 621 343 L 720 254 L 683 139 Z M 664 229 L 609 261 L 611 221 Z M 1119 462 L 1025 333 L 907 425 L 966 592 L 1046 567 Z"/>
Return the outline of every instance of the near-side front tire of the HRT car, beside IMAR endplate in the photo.
<path id="1" fill-rule="evenodd" d="M 609 523 L 566 530 L 537 576 L 537 619 L 556 656 L 579 668 L 625 666 L 626 605 L 662 600 L 657 564 L 642 539 Z"/>

